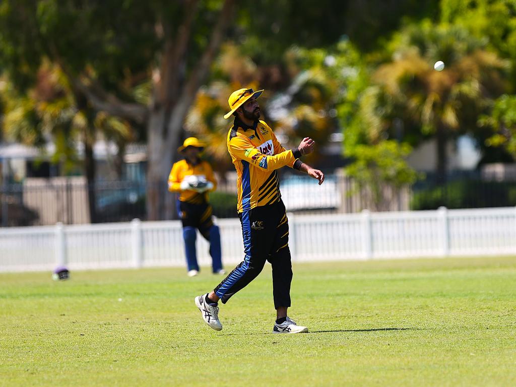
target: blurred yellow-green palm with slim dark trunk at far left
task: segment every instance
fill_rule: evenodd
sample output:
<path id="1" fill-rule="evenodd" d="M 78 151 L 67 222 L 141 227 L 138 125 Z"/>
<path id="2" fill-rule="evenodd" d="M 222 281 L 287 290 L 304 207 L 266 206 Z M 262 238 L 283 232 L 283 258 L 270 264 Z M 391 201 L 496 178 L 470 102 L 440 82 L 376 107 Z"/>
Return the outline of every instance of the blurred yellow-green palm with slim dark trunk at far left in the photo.
<path id="1" fill-rule="evenodd" d="M 116 141 L 117 158 L 121 158 L 125 143 L 132 138 L 131 125 L 104 112 L 95 112 L 88 104 L 79 106 L 81 101 L 76 100 L 66 77 L 49 62 L 42 64 L 36 86 L 30 92 L 21 94 L 5 80 L 0 95 L 5 136 L 36 147 L 54 142 L 56 150 L 50 155 L 51 162 L 60 163 L 65 171 L 81 164 L 76 143 L 83 142 L 82 166 L 88 187 L 89 215 L 90 221 L 95 222 L 94 143 L 98 136 Z"/>

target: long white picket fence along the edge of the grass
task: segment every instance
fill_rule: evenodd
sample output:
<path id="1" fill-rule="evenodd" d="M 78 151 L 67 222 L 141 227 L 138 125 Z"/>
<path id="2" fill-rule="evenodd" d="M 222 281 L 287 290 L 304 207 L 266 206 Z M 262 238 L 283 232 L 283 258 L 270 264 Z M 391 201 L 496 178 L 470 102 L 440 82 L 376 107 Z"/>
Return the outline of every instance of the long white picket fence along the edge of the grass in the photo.
<path id="1" fill-rule="evenodd" d="M 223 263 L 244 257 L 238 219 L 219 219 Z M 294 262 L 516 254 L 516 208 L 289 214 Z M 198 235 L 201 265 L 208 244 Z M 180 221 L 0 229 L 0 271 L 184 266 Z"/>

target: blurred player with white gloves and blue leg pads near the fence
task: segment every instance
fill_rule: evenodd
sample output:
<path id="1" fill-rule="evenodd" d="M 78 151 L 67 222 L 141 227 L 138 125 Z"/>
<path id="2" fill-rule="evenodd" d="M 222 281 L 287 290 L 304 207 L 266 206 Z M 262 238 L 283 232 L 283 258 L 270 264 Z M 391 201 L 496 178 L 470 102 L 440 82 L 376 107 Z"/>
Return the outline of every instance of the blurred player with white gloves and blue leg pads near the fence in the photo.
<path id="1" fill-rule="evenodd" d="M 209 254 L 212 256 L 212 269 L 216 274 L 225 274 L 222 269 L 220 251 L 220 232 L 212 220 L 212 206 L 208 202 L 208 192 L 217 188 L 217 181 L 212 167 L 199 157 L 204 144 L 195 137 L 187 138 L 178 150 L 185 156 L 184 160 L 172 166 L 168 176 L 168 189 L 180 192 L 178 210 L 183 222 L 183 239 L 185 242 L 188 276 L 197 276 L 196 238 L 197 229 L 209 242 Z"/>

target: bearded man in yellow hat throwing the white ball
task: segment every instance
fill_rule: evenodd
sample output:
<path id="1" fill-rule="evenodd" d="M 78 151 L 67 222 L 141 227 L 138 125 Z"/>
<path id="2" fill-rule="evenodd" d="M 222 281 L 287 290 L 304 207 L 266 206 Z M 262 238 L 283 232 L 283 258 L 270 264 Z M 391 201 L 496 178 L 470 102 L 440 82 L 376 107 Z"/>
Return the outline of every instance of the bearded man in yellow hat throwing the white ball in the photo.
<path id="1" fill-rule="evenodd" d="M 312 152 L 314 141 L 304 138 L 298 148 L 286 150 L 271 128 L 260 120 L 256 101 L 263 90 L 240 89 L 229 98 L 235 116 L 228 133 L 228 151 L 237 172 L 238 213 L 244 236 L 244 261 L 215 289 L 195 298 L 206 324 L 221 330 L 218 301 L 228 300 L 262 271 L 265 261 L 272 265 L 272 286 L 276 322 L 273 333 L 308 332 L 287 316 L 291 306 L 291 253 L 288 248 L 288 220 L 281 200 L 277 170 L 290 167 L 324 182 L 324 174 L 299 159 Z"/>

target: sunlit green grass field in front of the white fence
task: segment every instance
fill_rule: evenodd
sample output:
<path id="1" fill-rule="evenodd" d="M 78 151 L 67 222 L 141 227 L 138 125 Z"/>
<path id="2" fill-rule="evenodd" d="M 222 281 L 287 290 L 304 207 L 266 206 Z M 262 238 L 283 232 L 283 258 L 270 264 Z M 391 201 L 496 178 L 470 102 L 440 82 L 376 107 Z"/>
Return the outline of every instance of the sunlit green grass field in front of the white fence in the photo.
<path id="1" fill-rule="evenodd" d="M 270 266 L 207 327 L 184 269 L 0 274 L 0 385 L 516 385 L 516 257 Z"/>

